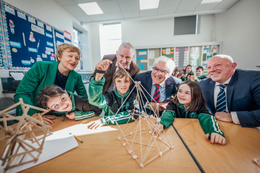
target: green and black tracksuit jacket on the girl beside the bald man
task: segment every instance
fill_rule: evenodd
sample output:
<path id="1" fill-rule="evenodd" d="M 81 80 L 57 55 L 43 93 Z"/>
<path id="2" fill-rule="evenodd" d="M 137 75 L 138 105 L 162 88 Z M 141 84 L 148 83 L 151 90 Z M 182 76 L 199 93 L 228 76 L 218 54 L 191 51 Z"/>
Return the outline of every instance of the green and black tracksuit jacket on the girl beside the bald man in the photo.
<path id="1" fill-rule="evenodd" d="M 161 116 L 160 123 L 164 125 L 163 128 L 168 128 L 176 117 L 197 118 L 205 134 L 208 133 L 211 135 L 211 133 L 214 132 L 225 137 L 224 133 L 220 131 L 220 127 L 214 116 L 212 116 L 204 106 L 197 112 L 186 112 L 185 110 L 186 108 L 182 104 L 179 103 L 179 105 L 176 105 L 171 100 Z"/>

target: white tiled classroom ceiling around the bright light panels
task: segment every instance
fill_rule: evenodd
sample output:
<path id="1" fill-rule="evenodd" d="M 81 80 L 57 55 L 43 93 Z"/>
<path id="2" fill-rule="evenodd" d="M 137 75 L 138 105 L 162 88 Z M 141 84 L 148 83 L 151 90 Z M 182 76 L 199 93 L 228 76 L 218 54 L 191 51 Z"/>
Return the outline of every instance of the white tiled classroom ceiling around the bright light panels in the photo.
<path id="1" fill-rule="evenodd" d="M 82 23 L 117 22 L 187 16 L 195 14 L 214 14 L 227 11 L 239 0 L 201 4 L 202 0 L 160 0 L 159 8 L 139 10 L 139 0 L 54 0 Z M 87 15 L 79 3 L 97 2 L 104 14 Z"/>

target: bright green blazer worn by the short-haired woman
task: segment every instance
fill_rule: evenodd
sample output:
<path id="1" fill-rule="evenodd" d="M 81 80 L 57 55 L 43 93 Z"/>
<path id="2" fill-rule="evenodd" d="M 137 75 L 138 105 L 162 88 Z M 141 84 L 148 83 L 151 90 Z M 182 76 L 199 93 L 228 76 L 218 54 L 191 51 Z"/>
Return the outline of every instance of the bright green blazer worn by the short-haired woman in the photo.
<path id="1" fill-rule="evenodd" d="M 19 98 L 22 98 L 24 103 L 40 107 L 37 104 L 36 97 L 46 85 L 54 84 L 58 64 L 58 62 L 49 61 L 36 62 L 21 80 L 14 95 L 14 101 L 17 103 L 19 102 Z M 74 70 L 69 72 L 65 90 L 72 93 L 76 91 L 79 96 L 88 98 L 81 75 Z M 37 110 L 30 109 L 28 115 L 32 116 L 36 112 Z M 21 106 L 17 106 L 17 116 L 21 116 L 22 113 Z"/>

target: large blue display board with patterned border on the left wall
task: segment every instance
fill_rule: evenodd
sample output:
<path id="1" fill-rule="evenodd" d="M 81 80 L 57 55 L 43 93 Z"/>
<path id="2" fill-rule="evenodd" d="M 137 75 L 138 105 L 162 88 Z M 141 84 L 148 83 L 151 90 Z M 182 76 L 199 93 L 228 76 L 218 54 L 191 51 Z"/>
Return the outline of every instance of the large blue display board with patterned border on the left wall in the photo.
<path id="1" fill-rule="evenodd" d="M 55 40 L 71 44 L 70 33 L 62 32 L 7 2 L 0 0 L 0 5 L 1 50 L 5 47 L 2 62 L 7 62 L 0 65 L 1 69 L 29 70 L 37 61 L 56 61 Z"/>

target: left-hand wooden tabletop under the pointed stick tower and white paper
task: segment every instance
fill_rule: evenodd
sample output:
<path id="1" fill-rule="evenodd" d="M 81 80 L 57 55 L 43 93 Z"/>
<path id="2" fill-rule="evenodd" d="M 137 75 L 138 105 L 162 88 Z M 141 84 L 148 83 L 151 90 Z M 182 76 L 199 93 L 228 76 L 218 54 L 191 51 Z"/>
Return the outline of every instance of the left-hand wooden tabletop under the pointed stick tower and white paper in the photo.
<path id="1" fill-rule="evenodd" d="M 53 120 L 55 123 L 52 124 L 51 131 L 80 124 L 83 121 L 89 123 L 100 117 L 82 121 L 66 118 L 61 122 L 62 118 L 56 117 Z M 111 127 L 117 129 L 116 125 Z M 78 147 L 22 172 L 201 172 L 174 129 L 170 127 L 165 132 L 169 138 L 174 138 L 174 148 L 166 151 L 162 157 L 156 158 L 144 168 L 140 168 L 132 155 L 128 154 L 126 148 L 117 139 L 119 131 L 115 130 L 79 136 L 84 143 L 78 141 Z M 0 136 L 3 136 L 1 131 Z M 4 144 L 0 143 L 0 154 L 4 150 Z"/>

